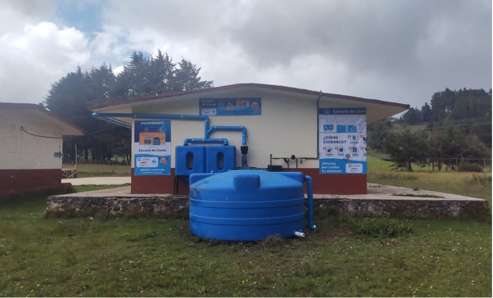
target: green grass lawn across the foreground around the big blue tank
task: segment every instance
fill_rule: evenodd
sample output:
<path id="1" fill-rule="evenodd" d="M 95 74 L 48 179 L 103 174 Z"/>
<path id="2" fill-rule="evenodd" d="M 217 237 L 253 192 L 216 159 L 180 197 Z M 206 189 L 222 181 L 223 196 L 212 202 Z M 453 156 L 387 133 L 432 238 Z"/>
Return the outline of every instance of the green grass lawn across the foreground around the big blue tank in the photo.
<path id="1" fill-rule="evenodd" d="M 487 222 L 412 221 L 389 238 L 322 210 L 304 239 L 223 244 L 182 219 L 44 219 L 45 199 L 0 209 L 0 296 L 491 296 Z"/>

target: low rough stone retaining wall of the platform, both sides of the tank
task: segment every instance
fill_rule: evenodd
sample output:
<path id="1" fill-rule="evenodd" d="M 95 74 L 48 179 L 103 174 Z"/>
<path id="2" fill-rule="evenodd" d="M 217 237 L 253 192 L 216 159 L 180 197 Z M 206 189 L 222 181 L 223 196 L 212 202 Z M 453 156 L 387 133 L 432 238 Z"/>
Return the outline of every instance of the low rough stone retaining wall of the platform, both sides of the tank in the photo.
<path id="1" fill-rule="evenodd" d="M 111 215 L 144 213 L 162 217 L 189 204 L 188 197 L 77 197 L 52 196 L 48 198 L 47 212 L 75 211 L 81 215 L 87 210 L 106 211 Z M 489 205 L 484 200 L 414 200 L 414 199 L 315 199 L 315 208 L 326 207 L 336 213 L 348 212 L 356 216 L 396 215 L 407 218 L 454 218 L 470 216 L 482 218 L 489 215 Z"/>

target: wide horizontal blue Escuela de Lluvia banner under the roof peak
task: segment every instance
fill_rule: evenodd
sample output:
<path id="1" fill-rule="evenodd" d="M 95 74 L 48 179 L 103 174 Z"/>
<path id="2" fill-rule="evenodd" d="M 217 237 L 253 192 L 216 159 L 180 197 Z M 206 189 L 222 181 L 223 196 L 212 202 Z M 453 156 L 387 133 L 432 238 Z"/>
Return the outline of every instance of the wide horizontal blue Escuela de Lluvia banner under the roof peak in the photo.
<path id="1" fill-rule="evenodd" d="M 262 114 L 260 97 L 200 98 L 201 116 L 258 116 Z"/>

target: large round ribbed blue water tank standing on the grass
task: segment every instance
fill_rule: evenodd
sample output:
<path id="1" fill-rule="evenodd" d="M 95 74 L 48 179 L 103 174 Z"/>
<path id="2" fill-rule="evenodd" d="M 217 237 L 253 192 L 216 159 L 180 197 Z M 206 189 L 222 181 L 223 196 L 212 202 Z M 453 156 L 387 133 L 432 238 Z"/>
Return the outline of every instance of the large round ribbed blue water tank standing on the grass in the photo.
<path id="1" fill-rule="evenodd" d="M 190 176 L 190 230 L 208 239 L 258 241 L 305 230 L 300 172 L 230 170 Z"/>

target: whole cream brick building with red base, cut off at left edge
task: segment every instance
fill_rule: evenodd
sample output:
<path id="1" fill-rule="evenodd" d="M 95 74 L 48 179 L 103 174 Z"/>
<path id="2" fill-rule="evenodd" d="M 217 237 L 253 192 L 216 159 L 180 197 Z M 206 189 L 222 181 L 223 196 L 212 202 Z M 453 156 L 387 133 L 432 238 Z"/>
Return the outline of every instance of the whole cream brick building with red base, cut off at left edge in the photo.
<path id="1" fill-rule="evenodd" d="M 0 102 L 0 197 L 60 188 L 61 137 L 82 134 L 39 105 Z"/>

